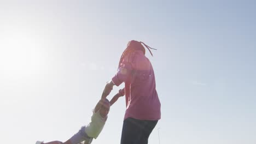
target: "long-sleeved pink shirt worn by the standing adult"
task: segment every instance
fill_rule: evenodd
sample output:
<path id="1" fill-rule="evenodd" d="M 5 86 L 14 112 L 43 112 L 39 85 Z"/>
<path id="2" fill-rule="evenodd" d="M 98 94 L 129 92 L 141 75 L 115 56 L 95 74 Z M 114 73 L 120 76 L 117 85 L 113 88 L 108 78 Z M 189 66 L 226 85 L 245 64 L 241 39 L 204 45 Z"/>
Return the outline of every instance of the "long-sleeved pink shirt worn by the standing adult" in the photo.
<path id="1" fill-rule="evenodd" d="M 142 51 L 126 56 L 112 78 L 115 85 L 125 82 L 126 112 L 124 119 L 156 121 L 161 118 L 161 104 L 156 92 L 155 74 Z"/>

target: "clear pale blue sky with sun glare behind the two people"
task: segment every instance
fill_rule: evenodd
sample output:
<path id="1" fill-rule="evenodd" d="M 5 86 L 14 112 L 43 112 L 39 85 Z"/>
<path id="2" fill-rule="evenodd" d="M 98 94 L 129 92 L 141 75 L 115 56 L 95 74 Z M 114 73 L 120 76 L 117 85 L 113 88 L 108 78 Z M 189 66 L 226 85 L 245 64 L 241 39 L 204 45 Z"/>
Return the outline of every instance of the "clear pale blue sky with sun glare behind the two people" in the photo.
<path id="1" fill-rule="evenodd" d="M 254 1 L 1 1 L 1 143 L 66 141 L 88 124 L 130 40 L 152 61 L 149 144 L 256 143 Z M 122 87 L 119 87 L 122 88 Z M 115 87 L 109 99 L 118 92 Z M 97 143 L 120 143 L 125 99 Z"/>

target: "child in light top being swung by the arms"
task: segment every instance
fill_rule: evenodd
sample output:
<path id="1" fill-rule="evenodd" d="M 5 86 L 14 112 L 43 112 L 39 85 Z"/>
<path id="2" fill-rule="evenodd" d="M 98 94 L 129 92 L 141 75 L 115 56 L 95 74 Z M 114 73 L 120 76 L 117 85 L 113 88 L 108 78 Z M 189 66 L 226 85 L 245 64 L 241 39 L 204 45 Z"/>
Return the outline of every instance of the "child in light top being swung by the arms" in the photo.
<path id="1" fill-rule="evenodd" d="M 111 100 L 111 105 L 113 105 L 120 96 L 120 92 L 116 94 Z M 84 142 L 84 144 L 90 144 L 92 142 L 92 139 L 96 139 L 101 133 L 104 124 L 107 121 L 109 109 L 109 100 L 106 98 L 101 99 L 100 101 L 98 101 L 95 109 L 93 110 L 91 122 L 87 126 L 82 127 L 78 131 L 78 133 L 73 135 L 69 140 L 67 140 L 66 142 L 51 141 L 48 143 L 37 141 L 36 144 L 78 144 L 82 142 Z"/>

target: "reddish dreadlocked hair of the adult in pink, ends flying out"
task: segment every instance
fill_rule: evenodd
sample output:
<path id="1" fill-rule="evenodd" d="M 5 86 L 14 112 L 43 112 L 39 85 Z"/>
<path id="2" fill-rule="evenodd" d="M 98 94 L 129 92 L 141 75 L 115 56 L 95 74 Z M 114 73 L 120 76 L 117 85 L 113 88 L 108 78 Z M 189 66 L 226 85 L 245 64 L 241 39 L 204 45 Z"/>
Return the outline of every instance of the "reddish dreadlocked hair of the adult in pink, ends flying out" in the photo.
<path id="1" fill-rule="evenodd" d="M 127 47 L 126 49 L 124 50 L 124 52 L 122 53 L 121 57 L 120 57 L 120 61 L 119 61 L 119 64 L 118 64 L 118 68 L 120 67 L 121 65 L 121 62 L 123 62 L 123 59 L 124 57 L 128 54 L 128 53 L 131 53 L 133 51 L 136 51 L 136 50 L 141 50 L 143 51 L 144 55 L 146 53 L 146 50 L 144 48 L 144 46 L 147 47 L 147 49 L 149 50 L 150 54 L 153 56 L 152 52 L 150 51 L 150 49 L 153 49 L 152 47 L 149 47 L 148 45 L 144 44 L 143 42 L 141 41 L 136 41 L 136 40 L 131 40 L 129 41 L 129 43 L 127 44 Z M 153 50 L 156 50 L 156 49 L 153 49 Z"/>

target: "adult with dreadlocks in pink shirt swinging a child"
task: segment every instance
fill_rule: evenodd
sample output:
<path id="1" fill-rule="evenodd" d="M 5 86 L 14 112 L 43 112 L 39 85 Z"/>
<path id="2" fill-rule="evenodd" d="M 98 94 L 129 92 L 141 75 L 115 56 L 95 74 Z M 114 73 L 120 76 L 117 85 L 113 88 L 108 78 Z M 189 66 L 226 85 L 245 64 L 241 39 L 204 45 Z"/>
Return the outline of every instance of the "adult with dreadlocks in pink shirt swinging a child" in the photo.
<path id="1" fill-rule="evenodd" d="M 104 95 L 108 95 L 114 85 L 120 86 L 125 82 L 125 88 L 119 94 L 125 94 L 126 98 L 121 144 L 147 144 L 149 135 L 161 118 L 154 70 L 142 44 L 153 56 L 150 51 L 152 47 L 141 41 L 129 41 L 119 60 L 117 73 L 107 82 L 103 91 Z"/>

